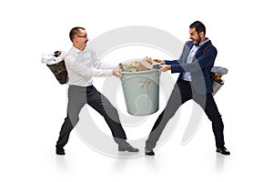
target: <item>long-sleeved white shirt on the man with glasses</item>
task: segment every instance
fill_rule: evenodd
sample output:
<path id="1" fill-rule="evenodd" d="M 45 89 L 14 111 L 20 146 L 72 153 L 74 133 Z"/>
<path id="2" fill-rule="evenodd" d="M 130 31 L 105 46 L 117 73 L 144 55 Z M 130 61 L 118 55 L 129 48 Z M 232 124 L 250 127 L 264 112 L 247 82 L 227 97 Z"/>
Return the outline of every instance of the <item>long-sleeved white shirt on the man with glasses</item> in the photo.
<path id="1" fill-rule="evenodd" d="M 91 86 L 93 76 L 113 76 L 113 69 L 104 62 L 101 62 L 95 51 L 85 47 L 83 51 L 73 46 L 65 57 L 68 73 L 68 85 Z"/>

